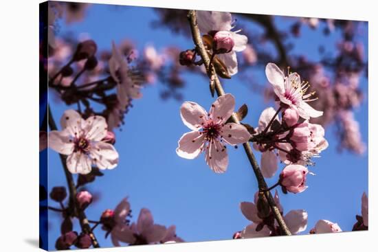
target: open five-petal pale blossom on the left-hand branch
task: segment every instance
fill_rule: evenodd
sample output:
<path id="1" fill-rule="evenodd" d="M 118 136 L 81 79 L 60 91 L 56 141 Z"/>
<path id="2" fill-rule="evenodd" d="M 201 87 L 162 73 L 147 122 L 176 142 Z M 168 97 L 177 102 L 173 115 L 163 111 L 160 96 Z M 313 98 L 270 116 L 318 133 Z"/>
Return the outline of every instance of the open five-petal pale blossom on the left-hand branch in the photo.
<path id="1" fill-rule="evenodd" d="M 88 174 L 91 165 L 102 170 L 118 165 L 118 152 L 113 145 L 102 141 L 107 135 L 104 117 L 94 115 L 84 120 L 70 109 L 63 113 L 60 125 L 62 131 L 52 130 L 49 133 L 49 148 L 67 155 L 69 172 Z"/>

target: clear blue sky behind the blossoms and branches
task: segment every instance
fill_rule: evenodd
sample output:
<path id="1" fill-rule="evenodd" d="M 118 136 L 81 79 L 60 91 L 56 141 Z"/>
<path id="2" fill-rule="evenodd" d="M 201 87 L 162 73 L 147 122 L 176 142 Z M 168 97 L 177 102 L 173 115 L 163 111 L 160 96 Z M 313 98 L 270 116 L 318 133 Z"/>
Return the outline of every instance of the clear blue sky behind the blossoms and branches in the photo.
<path id="1" fill-rule="evenodd" d="M 173 34 L 168 29 L 152 28 L 151 21 L 157 15 L 151 8 L 91 5 L 87 18 L 82 23 L 65 26 L 60 22 L 60 34 L 73 32 L 88 33 L 100 49 L 109 49 L 111 41 L 119 43 L 131 38 L 142 49 L 153 44 L 162 48 L 178 45 L 181 49 L 192 48 L 187 37 Z M 293 21 L 278 17 L 278 27 L 287 27 Z M 250 23 L 247 23 L 250 25 Z M 367 31 L 364 28 L 364 45 L 367 48 Z M 314 32 L 302 28 L 302 36 L 294 40 L 294 51 L 318 60 L 318 45 L 326 45 L 332 51 L 336 35 L 324 38 L 321 31 Z M 59 34 L 58 34 L 59 36 Z M 367 54 L 367 52 L 366 52 Z M 256 69 L 258 82 L 265 83 L 263 69 Z M 200 76 L 185 75 L 187 85 L 184 99 L 198 102 L 209 108 L 213 99 L 208 91 L 208 82 Z M 236 106 L 247 104 L 249 115 L 245 122 L 256 125 L 258 117 L 267 106 L 259 94 L 252 93 L 245 82 L 238 78 L 224 82 L 225 91 L 234 94 Z M 362 137 L 368 141 L 368 83 L 362 80 L 365 100 L 356 111 L 355 117 L 362 129 Z M 143 98 L 135 100 L 134 107 L 126 115 L 122 131 L 117 130 L 117 148 L 120 153 L 118 168 L 105 171 L 102 178 L 89 187 L 100 192 L 98 203 L 87 209 L 91 220 L 98 220 L 104 209 L 113 208 L 122 198 L 129 196 L 134 218 L 142 207 L 151 209 L 155 222 L 162 225 L 177 225 L 177 233 L 188 242 L 205 240 L 225 240 L 232 238 L 235 231 L 249 224 L 238 207 L 241 201 L 253 201 L 257 190 L 256 179 L 249 166 L 243 148 L 229 148 L 230 165 L 225 174 L 215 174 L 205 164 L 203 155 L 194 160 L 181 159 L 175 149 L 177 141 L 188 128 L 179 116 L 180 102 L 163 101 L 159 98 L 159 86 L 144 89 Z M 73 107 L 75 108 L 75 107 Z M 52 102 L 52 110 L 58 122 L 67 106 Z M 357 156 L 336 150 L 334 137 L 336 128 L 326 129 L 329 148 L 317 159 L 311 170 L 317 174 L 309 176 L 309 188 L 302 194 L 283 195 L 280 200 L 288 212 L 291 209 L 306 209 L 309 214 L 308 233 L 319 219 L 337 222 L 346 231 L 351 231 L 355 215 L 361 209 L 362 192 L 368 192 L 368 156 Z M 258 160 L 260 155 L 256 153 Z M 268 179 L 271 185 L 277 178 Z M 56 185 L 66 185 L 58 154 L 49 151 L 49 190 Z M 55 203 L 49 201 L 54 206 Z M 60 225 L 55 213 L 50 214 L 49 248 L 60 233 Z M 77 227 L 77 226 L 76 226 Z M 104 239 L 104 231 L 95 231 L 102 247 L 111 247 L 110 239 Z"/>

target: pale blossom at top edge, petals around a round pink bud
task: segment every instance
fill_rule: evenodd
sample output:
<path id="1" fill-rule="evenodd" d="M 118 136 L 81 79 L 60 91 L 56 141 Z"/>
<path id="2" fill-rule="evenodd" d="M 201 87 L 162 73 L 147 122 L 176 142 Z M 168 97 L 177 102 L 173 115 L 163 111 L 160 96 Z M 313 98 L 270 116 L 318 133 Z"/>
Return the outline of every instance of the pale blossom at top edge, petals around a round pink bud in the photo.
<path id="1" fill-rule="evenodd" d="M 223 61 L 227 66 L 227 71 L 230 76 L 238 72 L 238 60 L 236 58 L 236 51 L 243 51 L 247 46 L 248 38 L 245 35 L 238 34 L 241 30 L 232 32 L 233 20 L 230 12 L 212 12 L 197 10 L 197 23 L 202 34 L 209 34 L 209 32 L 222 32 L 232 38 L 234 46 L 232 50 L 226 54 L 218 54 L 217 57 Z"/>

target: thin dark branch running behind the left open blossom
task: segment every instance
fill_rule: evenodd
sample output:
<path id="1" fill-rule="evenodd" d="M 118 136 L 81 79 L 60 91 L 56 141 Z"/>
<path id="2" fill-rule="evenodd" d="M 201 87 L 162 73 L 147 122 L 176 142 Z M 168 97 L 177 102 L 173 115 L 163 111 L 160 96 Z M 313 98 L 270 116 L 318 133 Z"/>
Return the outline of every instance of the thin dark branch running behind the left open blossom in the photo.
<path id="1" fill-rule="evenodd" d="M 52 112 L 50 109 L 50 106 L 47 105 L 47 111 L 48 111 L 48 122 L 49 122 L 49 127 L 50 130 L 58 130 L 56 127 L 54 117 L 52 117 Z M 98 244 L 98 241 L 96 239 L 96 236 L 92 232 L 91 226 L 89 225 L 89 221 L 87 219 L 87 216 L 85 215 L 84 210 L 80 210 L 80 207 L 78 207 L 76 203 L 76 185 L 74 182 L 74 178 L 67 169 L 67 164 L 66 164 L 66 157 L 63 154 L 59 154 L 60 161 L 62 161 L 63 165 L 63 170 L 65 171 L 65 177 L 67 180 L 67 185 L 69 189 L 69 207 L 73 207 L 74 212 L 77 214 L 79 222 L 80 222 L 80 227 L 84 233 L 87 233 L 89 237 L 92 240 L 92 245 L 95 248 L 100 248 L 100 244 Z"/>

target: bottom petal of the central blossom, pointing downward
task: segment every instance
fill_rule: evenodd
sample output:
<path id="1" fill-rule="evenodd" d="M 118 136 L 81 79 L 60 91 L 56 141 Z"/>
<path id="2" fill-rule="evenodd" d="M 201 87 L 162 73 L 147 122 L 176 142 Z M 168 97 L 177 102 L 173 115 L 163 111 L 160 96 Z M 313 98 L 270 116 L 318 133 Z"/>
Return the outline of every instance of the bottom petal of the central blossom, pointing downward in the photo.
<path id="1" fill-rule="evenodd" d="M 227 170 L 228 154 L 220 141 L 214 140 L 208 144 L 205 160 L 213 172 L 223 173 Z"/>

